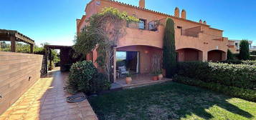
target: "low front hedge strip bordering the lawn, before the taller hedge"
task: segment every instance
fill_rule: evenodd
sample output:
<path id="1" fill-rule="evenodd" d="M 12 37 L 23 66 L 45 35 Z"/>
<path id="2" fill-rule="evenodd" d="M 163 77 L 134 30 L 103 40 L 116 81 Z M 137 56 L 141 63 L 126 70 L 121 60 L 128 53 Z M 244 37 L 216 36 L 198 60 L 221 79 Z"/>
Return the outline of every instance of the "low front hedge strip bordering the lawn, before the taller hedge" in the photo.
<path id="1" fill-rule="evenodd" d="M 229 96 L 235 96 L 249 101 L 256 101 L 256 91 L 252 89 L 242 89 L 236 86 L 225 86 L 213 82 L 204 82 L 199 79 L 190 79 L 184 76 L 175 76 L 174 81 L 191 86 L 199 86 L 204 89 L 210 89 L 212 91 L 221 92 Z"/>

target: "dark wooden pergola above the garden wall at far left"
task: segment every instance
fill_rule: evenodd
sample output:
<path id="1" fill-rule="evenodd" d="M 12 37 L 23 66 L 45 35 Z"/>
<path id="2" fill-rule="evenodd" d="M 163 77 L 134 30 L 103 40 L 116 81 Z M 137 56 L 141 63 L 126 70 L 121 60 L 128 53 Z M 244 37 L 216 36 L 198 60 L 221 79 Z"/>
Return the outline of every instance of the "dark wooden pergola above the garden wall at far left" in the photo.
<path id="1" fill-rule="evenodd" d="M 30 45 L 30 53 L 33 53 L 34 40 L 14 30 L 0 29 L 0 41 L 11 41 L 11 51 L 16 52 L 16 41 Z"/>

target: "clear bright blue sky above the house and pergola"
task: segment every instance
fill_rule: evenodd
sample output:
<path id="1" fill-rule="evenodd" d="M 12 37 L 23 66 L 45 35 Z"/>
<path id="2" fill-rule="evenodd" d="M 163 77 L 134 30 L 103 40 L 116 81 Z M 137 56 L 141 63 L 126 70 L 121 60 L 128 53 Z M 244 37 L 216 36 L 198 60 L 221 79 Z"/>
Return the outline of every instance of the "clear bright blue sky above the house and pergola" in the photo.
<path id="1" fill-rule="evenodd" d="M 75 19 L 85 14 L 90 0 L 3 0 L 0 29 L 14 29 L 36 41 L 72 45 Z M 138 0 L 118 0 L 138 6 Z M 174 14 L 175 7 L 186 9 L 187 19 L 207 21 L 224 30 L 229 39 L 254 40 L 256 45 L 255 0 L 146 0 L 146 8 Z"/>

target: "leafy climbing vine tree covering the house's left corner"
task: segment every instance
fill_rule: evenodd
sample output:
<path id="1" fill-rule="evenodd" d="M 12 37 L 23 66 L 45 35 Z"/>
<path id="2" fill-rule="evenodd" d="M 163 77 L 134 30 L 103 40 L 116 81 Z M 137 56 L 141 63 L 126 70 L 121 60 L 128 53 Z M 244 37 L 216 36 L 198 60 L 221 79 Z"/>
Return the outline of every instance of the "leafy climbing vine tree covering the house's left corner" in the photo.
<path id="1" fill-rule="evenodd" d="M 93 49 L 97 49 L 97 63 L 105 70 L 110 81 L 113 71 L 113 47 L 126 34 L 125 24 L 138 22 L 138 19 L 110 7 L 94 14 L 86 22 L 84 31 L 75 39 L 74 49 L 78 54 L 88 54 Z"/>

